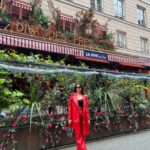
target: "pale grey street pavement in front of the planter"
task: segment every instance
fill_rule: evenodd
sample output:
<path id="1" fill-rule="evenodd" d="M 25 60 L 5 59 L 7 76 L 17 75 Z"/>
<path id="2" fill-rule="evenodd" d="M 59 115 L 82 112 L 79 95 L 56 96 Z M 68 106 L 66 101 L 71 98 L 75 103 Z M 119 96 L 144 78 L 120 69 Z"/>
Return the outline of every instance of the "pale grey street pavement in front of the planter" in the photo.
<path id="1" fill-rule="evenodd" d="M 59 150 L 76 150 L 76 147 Z M 87 150 L 150 150 L 150 130 L 88 142 Z"/>

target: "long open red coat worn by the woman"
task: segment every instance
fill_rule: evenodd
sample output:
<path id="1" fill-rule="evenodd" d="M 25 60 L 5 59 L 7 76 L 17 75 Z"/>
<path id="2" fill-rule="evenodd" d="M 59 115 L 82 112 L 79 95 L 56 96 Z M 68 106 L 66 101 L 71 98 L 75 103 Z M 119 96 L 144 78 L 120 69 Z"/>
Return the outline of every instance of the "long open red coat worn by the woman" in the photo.
<path id="1" fill-rule="evenodd" d="M 88 96 L 83 95 L 83 135 L 89 134 L 89 108 L 88 108 Z M 77 94 L 72 93 L 68 102 L 68 120 L 72 120 L 71 126 L 74 128 L 75 134 L 80 134 L 80 119 L 79 119 L 79 106 L 77 100 Z"/>

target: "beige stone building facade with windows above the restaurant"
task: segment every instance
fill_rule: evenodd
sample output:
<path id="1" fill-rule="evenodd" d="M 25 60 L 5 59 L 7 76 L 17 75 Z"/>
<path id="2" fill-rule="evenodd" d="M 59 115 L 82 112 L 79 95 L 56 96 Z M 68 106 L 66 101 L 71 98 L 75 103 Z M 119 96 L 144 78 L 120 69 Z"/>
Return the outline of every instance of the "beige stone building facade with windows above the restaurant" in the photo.
<path id="1" fill-rule="evenodd" d="M 116 52 L 150 58 L 149 0 L 55 0 L 61 12 L 75 17 L 81 9 L 95 9 L 95 18 L 113 34 Z M 42 3 L 48 15 L 46 1 Z"/>

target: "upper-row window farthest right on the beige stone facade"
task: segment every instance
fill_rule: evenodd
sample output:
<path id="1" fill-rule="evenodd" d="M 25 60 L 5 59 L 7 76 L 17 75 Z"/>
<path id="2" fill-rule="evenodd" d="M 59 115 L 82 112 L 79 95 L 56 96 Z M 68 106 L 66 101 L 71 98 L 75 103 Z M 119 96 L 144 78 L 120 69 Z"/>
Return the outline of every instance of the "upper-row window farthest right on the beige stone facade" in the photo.
<path id="1" fill-rule="evenodd" d="M 138 15 L 138 25 L 145 27 L 145 9 L 138 6 L 137 15 Z"/>

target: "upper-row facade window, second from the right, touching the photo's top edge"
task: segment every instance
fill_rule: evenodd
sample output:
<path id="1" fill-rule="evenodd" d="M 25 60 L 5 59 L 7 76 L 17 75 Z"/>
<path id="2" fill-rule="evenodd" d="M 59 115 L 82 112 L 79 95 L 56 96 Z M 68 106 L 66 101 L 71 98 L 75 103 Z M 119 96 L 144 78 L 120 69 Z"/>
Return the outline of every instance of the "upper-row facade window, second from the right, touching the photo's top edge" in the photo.
<path id="1" fill-rule="evenodd" d="M 114 11 L 115 11 L 115 17 L 119 19 L 123 19 L 123 11 L 124 11 L 124 1 L 123 0 L 114 0 Z"/>

